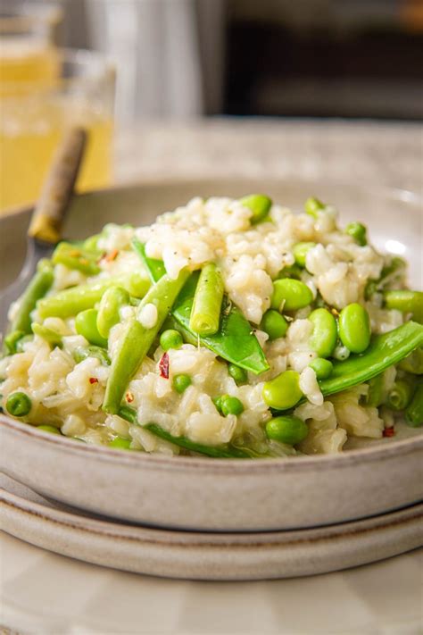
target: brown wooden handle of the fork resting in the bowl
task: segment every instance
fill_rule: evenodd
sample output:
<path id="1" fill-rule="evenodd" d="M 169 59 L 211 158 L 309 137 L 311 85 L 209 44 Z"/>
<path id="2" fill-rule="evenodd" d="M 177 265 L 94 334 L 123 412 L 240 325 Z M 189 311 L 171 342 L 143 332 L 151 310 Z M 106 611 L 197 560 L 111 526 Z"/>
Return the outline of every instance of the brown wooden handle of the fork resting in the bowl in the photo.
<path id="1" fill-rule="evenodd" d="M 55 245 L 62 236 L 62 221 L 77 180 L 87 144 L 87 132 L 72 128 L 57 148 L 29 224 L 28 235 Z"/>

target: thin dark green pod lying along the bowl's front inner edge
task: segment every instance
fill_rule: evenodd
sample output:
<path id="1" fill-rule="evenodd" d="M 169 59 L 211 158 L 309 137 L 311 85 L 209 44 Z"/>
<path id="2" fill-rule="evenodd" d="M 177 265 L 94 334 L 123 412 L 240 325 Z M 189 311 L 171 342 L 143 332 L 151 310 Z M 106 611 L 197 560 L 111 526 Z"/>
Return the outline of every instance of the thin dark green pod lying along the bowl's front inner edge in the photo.
<path id="1" fill-rule="evenodd" d="M 121 406 L 119 416 L 127 422 L 141 425 L 137 421 L 137 411 L 129 405 Z M 149 430 L 156 437 L 160 437 L 165 441 L 173 443 L 175 446 L 183 447 L 190 452 L 196 452 L 200 455 L 213 456 L 214 458 L 250 458 L 250 453 L 233 446 L 205 446 L 202 443 L 195 443 L 187 437 L 174 437 L 167 430 L 163 430 L 157 423 L 147 423 L 142 426 L 145 430 Z"/>

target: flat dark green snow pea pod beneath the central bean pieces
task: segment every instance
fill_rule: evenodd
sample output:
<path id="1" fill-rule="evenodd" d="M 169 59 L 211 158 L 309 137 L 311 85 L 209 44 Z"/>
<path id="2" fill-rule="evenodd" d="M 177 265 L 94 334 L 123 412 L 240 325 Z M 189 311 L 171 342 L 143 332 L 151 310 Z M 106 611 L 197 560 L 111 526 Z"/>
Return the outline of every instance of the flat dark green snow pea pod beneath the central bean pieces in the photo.
<path id="1" fill-rule="evenodd" d="M 154 260 L 145 256 L 144 245 L 137 240 L 133 240 L 133 246 L 137 254 L 141 257 L 152 280 L 159 280 L 163 272 L 166 272 L 160 260 Z M 189 328 L 189 320 L 194 303 L 195 288 L 199 273 L 195 272 L 187 281 L 187 284 L 179 293 L 178 299 L 171 311 L 173 318 L 178 322 L 184 333 L 189 338 L 195 338 L 196 333 Z M 200 337 L 204 347 L 210 348 L 213 353 L 220 355 L 230 363 L 246 371 L 260 374 L 269 370 L 269 363 L 261 349 L 258 339 L 253 334 L 250 323 L 245 320 L 243 313 L 228 301 L 228 297 L 223 297 L 222 311 L 220 317 L 220 329 L 214 335 Z"/>

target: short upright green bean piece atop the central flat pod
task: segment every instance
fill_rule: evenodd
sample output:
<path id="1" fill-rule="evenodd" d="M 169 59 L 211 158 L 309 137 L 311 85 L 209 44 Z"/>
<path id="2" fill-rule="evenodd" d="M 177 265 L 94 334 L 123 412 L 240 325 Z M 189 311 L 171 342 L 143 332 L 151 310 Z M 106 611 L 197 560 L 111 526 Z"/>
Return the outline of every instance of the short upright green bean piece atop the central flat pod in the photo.
<path id="1" fill-rule="evenodd" d="M 214 335 L 219 330 L 223 300 L 223 280 L 214 263 L 203 266 L 195 288 L 189 328 L 198 335 Z"/>

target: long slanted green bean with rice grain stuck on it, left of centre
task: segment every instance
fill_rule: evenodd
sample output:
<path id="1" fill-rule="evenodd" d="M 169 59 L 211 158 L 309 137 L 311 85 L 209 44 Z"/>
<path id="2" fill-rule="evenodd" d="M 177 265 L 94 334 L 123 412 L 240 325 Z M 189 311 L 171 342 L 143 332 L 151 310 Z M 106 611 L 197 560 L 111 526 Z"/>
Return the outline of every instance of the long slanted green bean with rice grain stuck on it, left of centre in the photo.
<path id="1" fill-rule="evenodd" d="M 116 414 L 120 407 L 129 380 L 132 378 L 145 355 L 153 344 L 154 338 L 167 318 L 181 288 L 187 282 L 190 272 L 182 270 L 176 280 L 163 276 L 147 292 L 137 307 L 137 316 L 145 305 L 153 304 L 157 308 L 157 322 L 152 328 L 146 328 L 134 317 L 129 320 L 118 340 L 117 350 L 112 359 L 112 367 L 104 396 L 104 411 Z"/>

